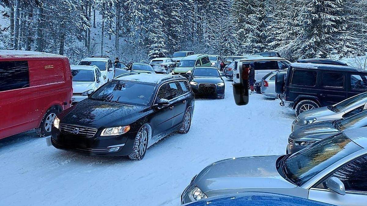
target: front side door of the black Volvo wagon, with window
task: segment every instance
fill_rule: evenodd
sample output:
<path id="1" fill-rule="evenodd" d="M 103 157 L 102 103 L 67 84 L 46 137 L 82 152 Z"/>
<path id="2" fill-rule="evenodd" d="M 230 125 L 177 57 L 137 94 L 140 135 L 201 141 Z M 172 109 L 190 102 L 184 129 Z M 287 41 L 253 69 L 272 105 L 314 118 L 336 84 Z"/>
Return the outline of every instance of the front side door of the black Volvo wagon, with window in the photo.
<path id="1" fill-rule="evenodd" d="M 172 100 L 170 88 L 167 83 L 161 85 L 157 92 L 155 99 L 155 104 L 160 99 Z M 172 121 L 175 116 L 175 111 L 173 110 L 173 105 L 170 103 L 168 106 L 155 108 L 155 114 L 152 118 L 152 138 L 154 141 L 158 140 L 160 136 L 172 127 Z"/>

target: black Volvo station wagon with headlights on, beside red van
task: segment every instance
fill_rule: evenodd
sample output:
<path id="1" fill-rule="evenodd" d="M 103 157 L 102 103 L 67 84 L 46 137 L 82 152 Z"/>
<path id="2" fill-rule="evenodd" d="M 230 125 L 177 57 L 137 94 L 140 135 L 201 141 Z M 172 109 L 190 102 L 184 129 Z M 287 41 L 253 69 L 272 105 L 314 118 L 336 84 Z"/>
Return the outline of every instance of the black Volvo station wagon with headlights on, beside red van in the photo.
<path id="1" fill-rule="evenodd" d="M 172 132 L 187 133 L 194 93 L 180 75 L 123 74 L 60 113 L 51 143 L 63 150 L 142 159 Z"/>

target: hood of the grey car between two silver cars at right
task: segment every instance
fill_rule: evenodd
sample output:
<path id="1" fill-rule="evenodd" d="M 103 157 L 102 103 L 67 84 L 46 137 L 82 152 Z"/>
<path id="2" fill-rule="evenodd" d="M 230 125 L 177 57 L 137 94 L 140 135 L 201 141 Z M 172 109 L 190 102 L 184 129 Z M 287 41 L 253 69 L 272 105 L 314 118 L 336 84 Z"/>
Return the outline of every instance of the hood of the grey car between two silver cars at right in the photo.
<path id="1" fill-rule="evenodd" d="M 334 128 L 334 121 L 327 122 L 319 122 L 315 124 L 310 124 L 302 127 L 301 129 L 295 130 L 290 134 L 290 136 L 295 139 L 309 137 L 309 138 L 319 138 L 323 139 L 324 137 L 333 135 L 338 133 L 339 130 Z"/>

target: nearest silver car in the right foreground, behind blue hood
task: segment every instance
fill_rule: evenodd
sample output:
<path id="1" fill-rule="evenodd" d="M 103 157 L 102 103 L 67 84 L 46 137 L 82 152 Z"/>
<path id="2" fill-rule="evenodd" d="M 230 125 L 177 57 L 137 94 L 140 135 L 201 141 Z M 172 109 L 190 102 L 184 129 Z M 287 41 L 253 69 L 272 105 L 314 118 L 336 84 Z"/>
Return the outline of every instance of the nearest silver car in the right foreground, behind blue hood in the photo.
<path id="1" fill-rule="evenodd" d="M 181 203 L 252 191 L 334 205 L 364 205 L 367 201 L 366 134 L 367 128 L 348 130 L 292 155 L 214 162 L 192 179 L 181 195 Z"/>

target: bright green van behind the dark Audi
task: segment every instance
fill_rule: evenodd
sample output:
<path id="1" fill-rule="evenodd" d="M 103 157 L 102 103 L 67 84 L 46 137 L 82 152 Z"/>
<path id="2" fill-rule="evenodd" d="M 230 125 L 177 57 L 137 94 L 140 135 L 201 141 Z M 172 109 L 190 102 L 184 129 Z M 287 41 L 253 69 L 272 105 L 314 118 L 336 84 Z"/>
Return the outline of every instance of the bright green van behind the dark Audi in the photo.
<path id="1" fill-rule="evenodd" d="M 209 56 L 207 54 L 194 54 L 183 58 L 173 70 L 172 74 L 181 74 L 189 78 L 191 71 L 196 66 L 211 66 Z"/>

